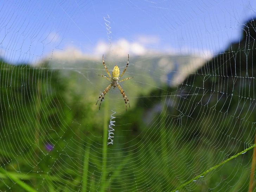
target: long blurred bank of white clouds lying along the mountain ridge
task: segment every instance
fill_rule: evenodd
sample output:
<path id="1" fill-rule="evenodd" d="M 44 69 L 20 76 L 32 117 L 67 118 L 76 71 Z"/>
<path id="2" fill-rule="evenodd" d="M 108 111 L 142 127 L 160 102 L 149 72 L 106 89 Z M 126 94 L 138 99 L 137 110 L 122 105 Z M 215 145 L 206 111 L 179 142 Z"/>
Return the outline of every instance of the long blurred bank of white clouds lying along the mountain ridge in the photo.
<path id="1" fill-rule="evenodd" d="M 52 37 L 54 34 L 52 34 Z M 55 35 L 57 36 L 57 34 Z M 148 38 L 147 38 L 148 37 Z M 54 38 L 53 38 L 54 39 Z M 148 39 L 148 41 L 146 40 Z M 153 39 L 153 40 L 152 40 Z M 138 41 L 129 42 L 126 39 L 120 39 L 118 41 L 112 41 L 109 44 L 107 41 L 98 41 L 93 51 L 90 53 L 85 53 L 79 47 L 75 46 L 67 46 L 66 49 L 63 50 L 56 50 L 53 51 L 50 57 L 52 59 L 65 59 L 65 60 L 76 60 L 76 59 L 98 59 L 101 55 L 111 55 L 113 56 L 120 56 L 120 57 L 127 57 L 127 55 L 133 56 L 146 56 L 146 55 L 191 55 L 192 53 L 183 52 L 181 50 L 190 50 L 190 49 L 179 49 L 176 50 L 175 47 L 171 47 L 168 45 L 161 46 L 162 50 L 159 49 L 152 49 L 152 47 L 159 47 L 158 45 L 153 46 L 151 44 L 151 49 L 148 49 L 148 46 L 145 45 L 148 42 L 151 43 L 158 43 L 159 39 L 154 36 L 139 36 Z M 211 53 L 203 52 L 199 50 L 193 50 L 193 53 L 196 53 L 194 56 L 199 56 L 201 59 L 203 57 L 204 60 L 207 60 L 212 57 Z M 193 55 L 193 54 L 192 54 Z M 196 62 L 197 63 L 197 62 Z"/>

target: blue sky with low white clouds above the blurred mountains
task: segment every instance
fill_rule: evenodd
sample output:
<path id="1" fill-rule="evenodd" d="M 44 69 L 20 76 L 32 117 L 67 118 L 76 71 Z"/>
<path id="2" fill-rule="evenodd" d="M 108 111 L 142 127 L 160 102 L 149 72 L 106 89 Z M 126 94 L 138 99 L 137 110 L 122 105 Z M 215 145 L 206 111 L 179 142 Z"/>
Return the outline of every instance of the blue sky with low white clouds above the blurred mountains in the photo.
<path id="1" fill-rule="evenodd" d="M 242 24 L 256 12 L 252 0 L 32 0 L 1 1 L 0 7 L 0 54 L 14 63 L 40 62 L 70 47 L 88 55 L 210 56 L 238 41 Z"/>

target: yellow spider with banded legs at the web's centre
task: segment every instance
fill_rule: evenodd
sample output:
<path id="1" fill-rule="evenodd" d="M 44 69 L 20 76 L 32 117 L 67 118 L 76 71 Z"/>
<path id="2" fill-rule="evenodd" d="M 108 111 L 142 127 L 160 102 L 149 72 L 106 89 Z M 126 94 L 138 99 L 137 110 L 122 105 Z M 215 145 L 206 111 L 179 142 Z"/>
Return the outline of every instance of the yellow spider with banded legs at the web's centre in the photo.
<path id="1" fill-rule="evenodd" d="M 108 69 L 107 69 L 107 66 L 105 65 L 103 56 L 104 56 L 104 55 L 102 55 L 102 63 L 103 63 L 103 65 L 104 65 L 104 67 L 105 67 L 105 70 L 107 71 L 108 76 L 109 76 L 110 78 L 108 78 L 107 75 L 105 75 L 105 76 L 103 76 L 103 75 L 98 75 L 98 76 L 101 76 L 101 77 L 104 77 L 104 78 L 108 79 L 108 81 L 110 81 L 111 83 L 110 83 L 110 85 L 108 85 L 108 87 L 102 92 L 102 94 L 100 94 L 100 97 L 98 98 L 98 101 L 101 99 L 99 109 L 101 109 L 101 103 L 102 103 L 102 101 L 104 100 L 104 96 L 107 94 L 107 92 L 109 91 L 109 89 L 113 86 L 113 89 L 115 89 L 115 88 L 117 87 L 117 88 L 120 90 L 121 94 L 123 95 L 123 99 L 124 99 L 125 107 L 126 107 L 126 111 L 127 111 L 127 102 L 128 102 L 129 107 L 130 107 L 130 102 L 129 102 L 129 100 L 128 100 L 126 94 L 124 93 L 122 87 L 119 85 L 119 83 L 122 82 L 122 81 L 128 80 L 128 79 L 131 79 L 131 78 L 133 78 L 133 77 L 128 77 L 128 78 L 123 79 L 123 80 L 121 80 L 121 81 L 119 81 L 119 79 L 123 76 L 124 72 L 126 71 L 126 69 L 127 69 L 127 67 L 128 67 L 128 64 L 129 64 L 129 54 L 128 54 L 128 62 L 127 62 L 127 65 L 126 65 L 126 67 L 124 68 L 122 74 L 119 76 L 120 70 L 119 70 L 118 66 L 115 65 L 115 66 L 114 66 L 114 69 L 113 69 L 113 72 L 112 72 L 112 77 L 111 77 L 111 75 L 110 75 L 110 73 L 109 73 L 109 71 L 108 71 Z M 98 101 L 96 102 L 96 105 L 97 105 Z"/>

